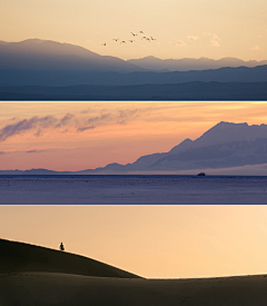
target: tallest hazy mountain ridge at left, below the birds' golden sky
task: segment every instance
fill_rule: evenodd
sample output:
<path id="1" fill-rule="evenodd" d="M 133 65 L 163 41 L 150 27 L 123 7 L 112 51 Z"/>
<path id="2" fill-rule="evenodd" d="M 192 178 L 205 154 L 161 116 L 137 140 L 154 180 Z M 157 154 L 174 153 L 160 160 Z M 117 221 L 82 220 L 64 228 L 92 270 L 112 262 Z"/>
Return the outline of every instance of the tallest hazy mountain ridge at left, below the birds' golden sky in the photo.
<path id="1" fill-rule="evenodd" d="M 122 59 L 100 56 L 86 48 L 50 40 L 28 39 L 0 43 L 0 69 L 63 71 L 146 71 Z"/>

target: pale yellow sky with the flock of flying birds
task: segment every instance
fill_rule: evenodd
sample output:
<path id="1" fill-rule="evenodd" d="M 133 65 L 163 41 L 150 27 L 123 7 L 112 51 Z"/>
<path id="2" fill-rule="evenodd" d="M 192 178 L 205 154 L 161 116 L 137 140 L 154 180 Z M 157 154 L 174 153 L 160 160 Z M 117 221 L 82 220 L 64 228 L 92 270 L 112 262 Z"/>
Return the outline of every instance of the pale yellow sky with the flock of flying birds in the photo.
<path id="1" fill-rule="evenodd" d="M 122 59 L 267 59 L 266 0 L 0 0 L 0 12 L 4 41 L 71 42 Z M 130 33 L 139 31 L 156 40 Z"/>

